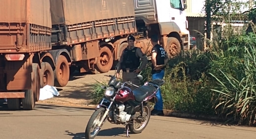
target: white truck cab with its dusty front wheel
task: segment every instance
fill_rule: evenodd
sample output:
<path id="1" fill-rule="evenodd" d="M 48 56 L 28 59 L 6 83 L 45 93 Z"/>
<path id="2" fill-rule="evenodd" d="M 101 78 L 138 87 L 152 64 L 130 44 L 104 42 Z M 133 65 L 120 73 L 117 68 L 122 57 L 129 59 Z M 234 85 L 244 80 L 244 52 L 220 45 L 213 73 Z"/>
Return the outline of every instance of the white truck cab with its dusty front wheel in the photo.
<path id="1" fill-rule="evenodd" d="M 149 36 L 158 33 L 171 57 L 181 49 L 190 49 L 186 0 L 134 0 L 134 6 L 137 28 L 146 26 Z"/>

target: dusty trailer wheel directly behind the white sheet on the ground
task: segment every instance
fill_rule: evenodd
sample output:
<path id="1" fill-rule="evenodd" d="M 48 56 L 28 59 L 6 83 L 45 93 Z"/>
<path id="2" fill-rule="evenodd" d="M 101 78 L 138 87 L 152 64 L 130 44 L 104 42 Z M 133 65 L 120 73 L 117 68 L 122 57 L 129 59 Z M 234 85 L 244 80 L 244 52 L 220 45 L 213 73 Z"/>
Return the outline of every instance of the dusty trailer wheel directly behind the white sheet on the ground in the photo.
<path id="1" fill-rule="evenodd" d="M 53 68 L 48 62 L 41 63 L 41 87 L 46 85 L 54 86 Z"/>

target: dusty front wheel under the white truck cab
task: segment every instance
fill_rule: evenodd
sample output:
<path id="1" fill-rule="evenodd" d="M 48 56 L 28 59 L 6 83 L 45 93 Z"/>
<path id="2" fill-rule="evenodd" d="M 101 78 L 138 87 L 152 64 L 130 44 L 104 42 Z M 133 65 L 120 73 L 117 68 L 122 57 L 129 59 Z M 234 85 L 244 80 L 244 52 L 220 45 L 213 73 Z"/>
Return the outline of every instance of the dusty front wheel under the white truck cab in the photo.
<path id="1" fill-rule="evenodd" d="M 181 43 L 175 37 L 169 37 L 165 51 L 168 53 L 169 58 L 176 57 L 181 53 Z"/>

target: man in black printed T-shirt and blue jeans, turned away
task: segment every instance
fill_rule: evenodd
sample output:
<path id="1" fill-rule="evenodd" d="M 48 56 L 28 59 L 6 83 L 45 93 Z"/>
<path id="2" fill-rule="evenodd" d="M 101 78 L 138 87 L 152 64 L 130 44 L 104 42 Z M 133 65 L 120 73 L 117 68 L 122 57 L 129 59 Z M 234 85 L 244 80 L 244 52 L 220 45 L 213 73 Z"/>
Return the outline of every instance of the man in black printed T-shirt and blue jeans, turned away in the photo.
<path id="1" fill-rule="evenodd" d="M 165 75 L 165 66 L 168 63 L 168 55 L 165 49 L 158 44 L 158 36 L 152 35 L 151 43 L 153 44 L 153 48 L 151 50 L 152 57 L 152 79 L 163 79 Z M 162 66 L 162 67 L 161 67 Z M 161 95 L 161 90 L 159 89 L 156 93 L 156 98 L 158 102 L 155 104 L 154 110 L 151 111 L 151 115 L 163 116 L 163 99 Z"/>

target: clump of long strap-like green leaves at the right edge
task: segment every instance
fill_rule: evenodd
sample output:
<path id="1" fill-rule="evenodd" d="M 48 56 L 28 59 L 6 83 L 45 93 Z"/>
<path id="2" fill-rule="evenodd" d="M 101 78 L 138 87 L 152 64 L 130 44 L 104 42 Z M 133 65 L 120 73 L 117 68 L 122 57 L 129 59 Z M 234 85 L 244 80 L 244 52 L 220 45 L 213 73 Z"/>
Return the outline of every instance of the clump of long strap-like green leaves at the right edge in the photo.
<path id="1" fill-rule="evenodd" d="M 239 124 L 256 124 L 256 34 L 244 35 L 244 46 L 239 49 L 243 55 L 237 53 L 232 60 L 233 67 L 218 68 L 212 75 L 218 85 L 211 90 L 217 93 L 215 109 L 219 115 L 231 117 Z M 230 57 L 229 57 L 230 58 Z"/>

